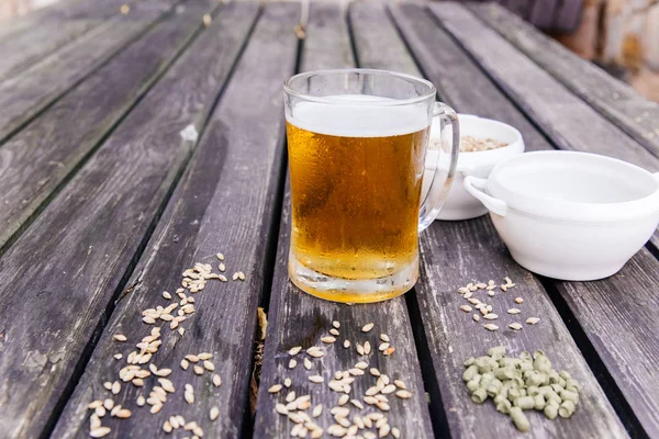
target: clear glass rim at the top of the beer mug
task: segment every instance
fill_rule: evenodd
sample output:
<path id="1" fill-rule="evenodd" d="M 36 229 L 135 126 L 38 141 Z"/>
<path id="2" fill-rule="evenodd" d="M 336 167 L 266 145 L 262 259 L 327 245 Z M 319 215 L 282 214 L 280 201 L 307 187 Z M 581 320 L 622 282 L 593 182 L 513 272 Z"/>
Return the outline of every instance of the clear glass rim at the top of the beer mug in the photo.
<path id="1" fill-rule="evenodd" d="M 407 74 L 401 74 L 398 71 L 380 70 L 380 69 L 365 69 L 365 68 L 324 69 L 324 70 L 304 71 L 302 74 L 294 75 L 294 76 L 288 78 L 286 81 L 283 81 L 283 91 L 289 95 L 293 95 L 295 98 L 303 99 L 305 101 L 324 103 L 324 104 L 328 104 L 328 105 L 345 104 L 346 100 L 337 99 L 336 94 L 332 95 L 332 97 L 320 97 L 320 95 L 309 94 L 303 91 L 295 90 L 293 87 L 293 82 L 295 80 L 311 78 L 313 76 L 338 76 L 338 75 L 347 75 L 347 74 L 392 77 L 392 78 L 406 80 L 407 82 L 423 85 L 428 88 L 428 92 L 426 92 L 425 94 L 418 95 L 418 97 L 405 98 L 405 99 L 391 99 L 391 100 L 387 100 L 387 101 L 376 101 L 376 102 L 373 102 L 373 101 L 361 102 L 361 101 L 350 100 L 349 102 L 351 105 L 365 105 L 365 106 L 410 105 L 410 104 L 420 103 L 420 102 L 423 102 L 423 101 L 426 101 L 429 99 L 435 101 L 436 95 L 437 95 L 437 89 L 435 88 L 433 82 L 431 82 L 426 79 L 417 78 L 415 76 L 407 75 Z"/>

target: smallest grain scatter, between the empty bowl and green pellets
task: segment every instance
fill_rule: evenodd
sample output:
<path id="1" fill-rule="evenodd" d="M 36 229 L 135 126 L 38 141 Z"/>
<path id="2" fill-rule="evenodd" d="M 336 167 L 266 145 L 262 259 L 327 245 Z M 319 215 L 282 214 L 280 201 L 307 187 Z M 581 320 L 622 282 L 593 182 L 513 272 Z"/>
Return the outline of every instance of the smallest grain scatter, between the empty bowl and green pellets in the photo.
<path id="1" fill-rule="evenodd" d="M 467 285 L 460 286 L 458 289 L 458 293 L 460 293 L 462 295 L 462 299 L 465 299 L 467 302 L 469 302 L 469 305 L 467 305 L 467 304 L 460 305 L 460 311 L 463 311 L 465 313 L 471 313 L 474 309 L 478 311 L 478 313 L 474 313 L 471 317 L 473 319 L 473 322 L 479 323 L 479 322 L 481 322 L 481 319 L 487 320 L 483 325 L 483 327 L 485 329 L 498 330 L 499 326 L 492 322 L 499 319 L 499 314 L 494 313 L 494 307 L 492 306 L 492 304 L 482 302 L 480 299 L 474 297 L 473 295 L 477 291 L 482 290 L 482 291 L 487 292 L 487 295 L 489 297 L 494 297 L 496 295 L 498 289 L 503 292 L 506 292 L 506 291 L 511 290 L 512 288 L 514 288 L 515 285 L 516 284 L 507 275 L 504 278 L 504 283 L 502 283 L 500 285 L 496 285 L 496 283 L 493 280 L 490 280 L 488 283 L 469 282 Z M 524 303 L 524 299 L 515 297 L 515 303 L 521 305 L 522 303 Z M 517 314 L 522 313 L 522 309 L 520 309 L 517 307 L 512 307 L 512 308 L 509 308 L 506 312 L 510 315 L 517 315 Z M 538 322 L 540 322 L 540 319 L 539 319 L 539 317 L 528 317 L 525 322 L 527 325 L 535 325 Z M 513 322 L 509 325 L 509 328 L 511 328 L 513 330 L 521 330 L 523 328 L 523 326 L 518 322 Z"/>

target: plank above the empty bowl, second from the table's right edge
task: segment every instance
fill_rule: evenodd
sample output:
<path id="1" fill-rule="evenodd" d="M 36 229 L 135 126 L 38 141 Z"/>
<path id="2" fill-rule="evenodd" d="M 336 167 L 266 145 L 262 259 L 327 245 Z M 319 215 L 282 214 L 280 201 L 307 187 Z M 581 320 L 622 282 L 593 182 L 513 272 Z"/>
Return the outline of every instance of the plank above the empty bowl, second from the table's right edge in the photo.
<path id="1" fill-rule="evenodd" d="M 429 7 L 494 82 L 561 149 L 615 157 L 656 172 L 659 158 L 458 3 Z M 659 230 L 650 239 L 659 248 Z"/>

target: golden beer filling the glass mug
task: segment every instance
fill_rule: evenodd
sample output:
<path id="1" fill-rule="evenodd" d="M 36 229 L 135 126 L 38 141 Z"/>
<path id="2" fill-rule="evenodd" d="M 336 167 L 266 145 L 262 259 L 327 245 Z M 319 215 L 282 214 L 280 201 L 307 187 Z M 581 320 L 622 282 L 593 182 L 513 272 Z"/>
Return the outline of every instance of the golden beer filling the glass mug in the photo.
<path id="1" fill-rule="evenodd" d="M 368 130 L 356 123 L 366 109 L 346 105 L 333 111 L 343 115 L 337 120 L 310 105 L 300 116 L 304 127 L 297 126 L 295 120 L 287 121 L 291 266 L 344 280 L 387 279 L 412 268 L 407 283 L 413 284 L 428 128 L 423 123 L 405 123 L 410 115 L 400 109 L 379 111 L 381 123 L 370 121 Z M 295 273 L 290 274 L 298 284 Z M 366 299 L 359 291 L 303 289 L 340 302 Z M 407 289 L 401 284 L 382 296 L 369 294 L 367 300 L 383 300 Z"/>

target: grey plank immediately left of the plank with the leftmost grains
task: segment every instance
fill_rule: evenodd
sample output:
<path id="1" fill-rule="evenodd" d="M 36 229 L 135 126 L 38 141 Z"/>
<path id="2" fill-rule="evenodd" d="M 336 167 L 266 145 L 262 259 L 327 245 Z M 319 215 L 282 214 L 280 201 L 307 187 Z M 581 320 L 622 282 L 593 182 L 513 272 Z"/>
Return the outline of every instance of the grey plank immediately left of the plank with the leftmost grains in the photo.
<path id="1" fill-rule="evenodd" d="M 96 329 L 188 162 L 194 143 L 179 132 L 189 124 L 201 131 L 239 52 L 254 16 L 245 8 L 254 7 L 231 5 L 225 19 L 221 11 L 201 44 L 179 58 L 0 259 L 0 428 L 8 437 L 47 434 L 76 385 Z"/>

